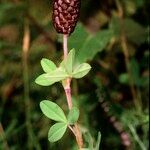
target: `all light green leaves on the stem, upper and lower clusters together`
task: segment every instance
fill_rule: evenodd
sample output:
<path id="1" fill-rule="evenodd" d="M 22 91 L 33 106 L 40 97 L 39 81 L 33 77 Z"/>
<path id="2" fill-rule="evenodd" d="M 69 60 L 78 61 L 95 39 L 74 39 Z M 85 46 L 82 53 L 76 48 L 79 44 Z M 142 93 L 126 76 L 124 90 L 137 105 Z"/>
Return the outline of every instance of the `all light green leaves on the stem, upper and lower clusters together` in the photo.
<path id="1" fill-rule="evenodd" d="M 57 68 L 52 61 L 42 59 L 41 66 L 46 73 L 37 77 L 35 82 L 39 85 L 47 86 L 61 81 L 65 88 L 64 83 L 67 78 L 82 78 L 90 71 L 91 66 L 87 63 L 82 63 L 74 67 L 74 59 L 75 49 L 70 50 L 67 58 L 60 63 L 59 68 Z M 67 126 L 74 125 L 79 118 L 79 110 L 76 107 L 72 107 L 69 111 L 67 117 L 68 120 L 66 119 L 63 110 L 56 103 L 43 100 L 40 103 L 40 108 L 46 117 L 59 122 L 54 124 L 48 132 L 48 139 L 50 142 L 56 142 L 61 139 Z"/>

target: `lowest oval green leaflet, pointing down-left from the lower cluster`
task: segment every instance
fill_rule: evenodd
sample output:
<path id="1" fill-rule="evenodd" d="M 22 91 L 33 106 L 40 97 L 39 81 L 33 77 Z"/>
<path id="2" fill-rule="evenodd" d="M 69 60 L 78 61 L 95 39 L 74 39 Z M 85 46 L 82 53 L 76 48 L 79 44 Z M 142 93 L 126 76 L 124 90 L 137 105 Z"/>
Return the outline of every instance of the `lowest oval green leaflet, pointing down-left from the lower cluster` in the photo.
<path id="1" fill-rule="evenodd" d="M 66 123 L 56 123 L 54 124 L 48 132 L 48 140 L 50 142 L 56 142 L 62 138 L 66 132 L 67 124 Z"/>

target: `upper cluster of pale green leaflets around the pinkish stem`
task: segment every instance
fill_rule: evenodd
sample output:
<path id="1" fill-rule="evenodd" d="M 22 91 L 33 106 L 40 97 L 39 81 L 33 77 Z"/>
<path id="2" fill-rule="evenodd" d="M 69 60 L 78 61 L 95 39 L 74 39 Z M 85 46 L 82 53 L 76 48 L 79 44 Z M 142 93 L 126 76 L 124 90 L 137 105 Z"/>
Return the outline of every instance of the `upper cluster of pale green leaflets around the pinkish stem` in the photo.
<path id="1" fill-rule="evenodd" d="M 41 65 L 43 70 L 46 72 L 35 80 L 39 85 L 48 86 L 52 85 L 55 82 L 63 81 L 67 78 L 82 78 L 84 77 L 91 69 L 91 66 L 87 63 L 82 63 L 75 65 L 74 64 L 74 55 L 75 50 L 72 49 L 66 60 L 60 63 L 60 67 L 48 60 L 42 59 Z"/>

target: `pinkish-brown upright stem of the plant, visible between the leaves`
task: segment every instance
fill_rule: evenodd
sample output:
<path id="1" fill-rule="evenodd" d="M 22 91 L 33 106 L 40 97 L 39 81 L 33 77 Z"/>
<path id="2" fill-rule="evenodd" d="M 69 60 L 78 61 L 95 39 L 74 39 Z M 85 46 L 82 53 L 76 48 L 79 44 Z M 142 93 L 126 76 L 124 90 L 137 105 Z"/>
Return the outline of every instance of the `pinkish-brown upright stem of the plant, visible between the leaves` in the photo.
<path id="1" fill-rule="evenodd" d="M 64 59 L 66 59 L 67 55 L 68 55 L 67 40 L 68 40 L 68 35 L 64 34 L 64 36 L 63 36 Z M 66 94 L 66 98 L 67 98 L 68 108 L 71 110 L 71 108 L 72 108 L 72 97 L 71 97 L 71 86 L 70 86 L 70 84 L 71 84 L 71 79 L 70 78 L 66 79 L 65 84 L 64 84 L 64 90 L 65 90 L 65 94 Z M 73 128 L 70 128 L 70 129 L 76 137 L 76 141 L 77 141 L 79 149 L 82 149 L 83 139 L 82 139 L 82 134 L 81 134 L 81 131 L 79 129 L 78 124 L 76 123 L 73 126 Z"/>

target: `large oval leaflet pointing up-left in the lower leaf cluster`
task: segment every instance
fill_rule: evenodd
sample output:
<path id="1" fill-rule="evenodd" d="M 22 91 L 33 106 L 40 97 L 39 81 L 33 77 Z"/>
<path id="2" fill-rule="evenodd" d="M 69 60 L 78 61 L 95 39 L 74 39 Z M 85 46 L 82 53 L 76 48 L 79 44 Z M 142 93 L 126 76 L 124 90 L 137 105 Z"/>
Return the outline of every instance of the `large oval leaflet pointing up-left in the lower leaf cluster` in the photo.
<path id="1" fill-rule="evenodd" d="M 40 102 L 40 108 L 46 117 L 55 121 L 67 122 L 63 110 L 56 103 L 43 100 Z"/>

